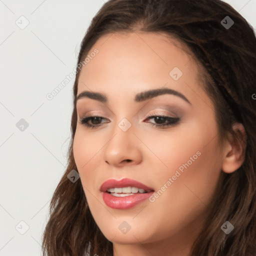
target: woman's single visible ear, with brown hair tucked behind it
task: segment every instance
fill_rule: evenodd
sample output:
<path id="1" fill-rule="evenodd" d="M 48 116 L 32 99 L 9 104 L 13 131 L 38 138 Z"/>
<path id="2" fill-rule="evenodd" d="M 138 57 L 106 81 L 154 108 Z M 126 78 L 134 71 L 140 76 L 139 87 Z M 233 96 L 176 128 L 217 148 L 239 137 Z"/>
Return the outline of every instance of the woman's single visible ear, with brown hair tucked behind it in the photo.
<path id="1" fill-rule="evenodd" d="M 231 173 L 237 170 L 243 163 L 246 148 L 246 132 L 241 123 L 234 123 L 233 130 L 238 135 L 238 140 L 234 139 L 232 134 L 228 134 L 226 146 L 223 151 L 222 170 L 226 173 Z"/>

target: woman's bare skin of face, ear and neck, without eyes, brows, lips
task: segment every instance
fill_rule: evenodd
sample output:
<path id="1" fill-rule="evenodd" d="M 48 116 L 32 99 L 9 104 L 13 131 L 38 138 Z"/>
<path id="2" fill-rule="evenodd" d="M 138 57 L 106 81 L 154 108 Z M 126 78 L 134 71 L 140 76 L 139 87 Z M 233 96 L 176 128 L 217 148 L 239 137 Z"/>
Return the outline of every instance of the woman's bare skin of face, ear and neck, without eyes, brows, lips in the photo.
<path id="1" fill-rule="evenodd" d="M 220 148 L 213 104 L 198 81 L 200 70 L 177 41 L 148 32 L 109 36 L 93 45 L 89 52 L 99 52 L 78 79 L 77 95 L 91 90 L 108 98 L 107 103 L 77 100 L 73 154 L 90 211 L 113 243 L 114 256 L 188 256 L 221 171 L 231 173 L 243 162 L 241 147 L 230 137 Z M 173 67 L 183 72 L 176 81 L 169 75 Z M 179 91 L 191 104 L 171 94 L 134 101 L 135 94 L 160 87 Z M 154 112 L 180 121 L 151 126 L 157 120 L 146 115 Z M 79 122 L 88 114 L 104 117 L 94 121 L 100 126 L 91 129 Z M 131 123 L 125 132 L 118 127 L 124 117 Z M 234 128 L 244 131 L 242 125 Z M 104 203 L 99 188 L 105 180 L 129 177 L 157 191 L 197 151 L 200 156 L 154 202 L 147 199 L 125 210 Z M 118 229 L 123 221 L 131 226 L 125 234 Z"/>

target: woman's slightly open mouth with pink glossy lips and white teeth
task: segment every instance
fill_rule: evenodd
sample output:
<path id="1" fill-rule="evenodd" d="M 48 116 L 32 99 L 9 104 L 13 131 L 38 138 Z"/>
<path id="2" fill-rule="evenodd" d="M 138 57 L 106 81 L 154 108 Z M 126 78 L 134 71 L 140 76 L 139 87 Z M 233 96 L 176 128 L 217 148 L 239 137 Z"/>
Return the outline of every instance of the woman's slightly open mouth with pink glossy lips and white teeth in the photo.
<path id="1" fill-rule="evenodd" d="M 108 179 L 100 186 L 103 201 L 114 209 L 127 209 L 151 196 L 154 189 L 136 180 Z"/>

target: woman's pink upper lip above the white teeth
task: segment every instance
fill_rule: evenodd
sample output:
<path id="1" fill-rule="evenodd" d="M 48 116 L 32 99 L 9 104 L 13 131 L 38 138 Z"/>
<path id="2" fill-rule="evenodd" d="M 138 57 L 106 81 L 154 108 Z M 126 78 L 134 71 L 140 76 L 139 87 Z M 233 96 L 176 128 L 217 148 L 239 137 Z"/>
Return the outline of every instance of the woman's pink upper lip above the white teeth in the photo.
<path id="1" fill-rule="evenodd" d="M 100 186 L 100 191 L 105 192 L 108 188 L 113 188 L 113 187 L 126 187 L 126 186 L 134 186 L 137 188 L 142 188 L 146 190 L 147 192 L 152 191 L 153 188 L 146 186 L 145 184 L 142 184 L 134 179 L 130 178 L 122 178 L 120 180 L 117 179 L 107 179 L 104 181 L 101 186 Z"/>

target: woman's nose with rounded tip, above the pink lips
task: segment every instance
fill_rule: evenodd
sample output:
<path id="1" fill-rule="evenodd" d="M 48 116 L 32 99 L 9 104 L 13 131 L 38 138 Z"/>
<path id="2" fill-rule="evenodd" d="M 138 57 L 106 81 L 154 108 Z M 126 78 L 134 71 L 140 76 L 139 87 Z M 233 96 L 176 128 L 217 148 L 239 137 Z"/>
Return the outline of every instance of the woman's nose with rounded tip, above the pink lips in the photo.
<path id="1" fill-rule="evenodd" d="M 104 161 L 115 167 L 139 164 L 142 161 L 140 145 L 141 142 L 134 135 L 132 125 L 126 131 L 117 126 L 114 135 L 103 149 Z"/>

